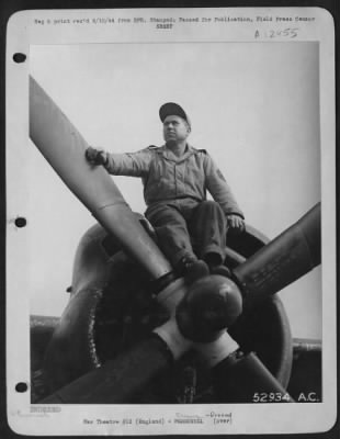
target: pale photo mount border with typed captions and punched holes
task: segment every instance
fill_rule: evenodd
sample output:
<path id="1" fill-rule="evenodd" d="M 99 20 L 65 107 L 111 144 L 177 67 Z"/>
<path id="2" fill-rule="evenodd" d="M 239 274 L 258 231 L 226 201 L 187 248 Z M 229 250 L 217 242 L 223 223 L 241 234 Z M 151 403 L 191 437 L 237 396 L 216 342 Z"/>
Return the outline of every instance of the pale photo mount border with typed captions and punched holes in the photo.
<path id="1" fill-rule="evenodd" d="M 154 24 L 134 31 L 110 26 L 104 23 L 113 18 L 167 16 L 178 21 L 179 16 L 296 16 L 314 18 L 302 21 L 297 31 L 282 32 L 280 22 L 242 22 L 236 29 L 211 23 L 200 31 L 186 24 L 177 25 L 171 33 L 159 33 Z M 76 26 L 72 20 L 98 19 L 98 26 Z M 63 27 L 39 24 L 41 21 L 69 20 Z M 284 29 L 287 29 L 285 25 Z M 291 27 L 290 27 L 291 29 Z M 296 29 L 296 27 L 294 27 Z M 257 35 L 257 30 L 259 34 Z M 61 32 L 60 32 L 61 31 Z M 273 36 L 274 32 L 274 36 Z M 297 33 L 292 38 L 293 33 Z M 8 24 L 7 43 L 7 387 L 8 421 L 18 434 L 24 435 L 238 435 L 238 434 L 303 434 L 321 432 L 330 429 L 337 418 L 337 315 L 336 315 L 336 149 L 335 149 L 335 35 L 331 15 L 319 8 L 242 8 L 242 9 L 122 9 L 122 10 L 38 10 L 22 11 L 11 16 Z M 50 412 L 32 410 L 30 392 L 15 391 L 18 383 L 30 386 L 30 300 L 24 294 L 30 283 L 25 267 L 30 259 L 29 228 L 18 229 L 14 219 L 25 216 L 30 188 L 26 184 L 26 169 L 18 164 L 25 162 L 25 148 L 29 142 L 29 75 L 30 58 L 18 64 L 13 54 L 30 54 L 32 45 L 68 45 L 131 42 L 175 43 L 197 42 L 318 42 L 320 74 L 320 144 L 321 144 L 321 212 L 322 212 L 322 402 L 310 404 L 242 404 L 204 406 L 135 406 L 135 405 L 67 405 L 50 406 Z M 18 274 L 20 273 L 20 275 Z M 327 300 L 326 300 L 327 299 Z M 19 306 L 20 304 L 20 306 Z M 327 337 L 326 337 L 327 335 Z M 25 347 L 14 350 L 13 346 Z M 233 423 L 216 424 L 208 419 L 204 425 L 169 424 L 178 414 L 202 416 L 207 413 L 233 413 Z M 140 426 L 136 419 L 152 417 L 157 412 L 160 424 Z M 91 419 L 133 419 L 132 425 L 84 424 L 84 413 Z M 268 421 L 263 423 L 263 419 Z M 270 419 L 270 421 L 269 421 Z"/>

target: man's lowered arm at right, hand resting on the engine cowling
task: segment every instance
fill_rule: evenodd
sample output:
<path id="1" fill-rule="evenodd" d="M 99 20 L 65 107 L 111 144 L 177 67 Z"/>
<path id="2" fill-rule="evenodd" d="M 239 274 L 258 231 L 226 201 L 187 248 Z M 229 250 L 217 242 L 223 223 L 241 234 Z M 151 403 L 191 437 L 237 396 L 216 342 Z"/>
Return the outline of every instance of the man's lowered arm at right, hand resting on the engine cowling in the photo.
<path id="1" fill-rule="evenodd" d="M 228 226 L 231 228 L 245 228 L 245 215 L 240 210 L 223 173 L 215 165 L 211 156 L 205 155 L 206 189 L 213 199 L 222 206 L 226 214 Z"/>

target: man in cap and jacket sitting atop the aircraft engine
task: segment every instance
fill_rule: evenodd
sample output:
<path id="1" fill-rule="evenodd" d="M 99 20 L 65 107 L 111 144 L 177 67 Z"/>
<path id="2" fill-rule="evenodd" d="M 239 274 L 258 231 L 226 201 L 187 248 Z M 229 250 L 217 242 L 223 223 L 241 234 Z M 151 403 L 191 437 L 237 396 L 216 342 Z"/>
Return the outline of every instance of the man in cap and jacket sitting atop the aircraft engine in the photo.
<path id="1" fill-rule="evenodd" d="M 145 216 L 179 275 L 190 281 L 208 273 L 229 275 L 224 266 L 227 229 L 242 230 L 243 214 L 207 151 L 188 144 L 191 122 L 184 110 L 168 102 L 159 115 L 165 145 L 131 154 L 89 147 L 86 157 L 111 175 L 141 178 Z M 214 201 L 206 200 L 206 191 Z"/>

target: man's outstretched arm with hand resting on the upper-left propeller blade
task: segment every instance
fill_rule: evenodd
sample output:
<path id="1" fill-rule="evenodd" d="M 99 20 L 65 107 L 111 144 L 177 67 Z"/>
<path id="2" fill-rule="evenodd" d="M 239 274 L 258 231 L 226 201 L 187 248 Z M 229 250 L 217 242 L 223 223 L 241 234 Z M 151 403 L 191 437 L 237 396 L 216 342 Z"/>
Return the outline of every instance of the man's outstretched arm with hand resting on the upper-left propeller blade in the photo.
<path id="1" fill-rule="evenodd" d="M 136 153 L 112 154 L 89 147 L 86 158 L 93 166 L 102 165 L 113 176 L 145 177 L 150 167 L 151 154 L 149 148 Z"/>

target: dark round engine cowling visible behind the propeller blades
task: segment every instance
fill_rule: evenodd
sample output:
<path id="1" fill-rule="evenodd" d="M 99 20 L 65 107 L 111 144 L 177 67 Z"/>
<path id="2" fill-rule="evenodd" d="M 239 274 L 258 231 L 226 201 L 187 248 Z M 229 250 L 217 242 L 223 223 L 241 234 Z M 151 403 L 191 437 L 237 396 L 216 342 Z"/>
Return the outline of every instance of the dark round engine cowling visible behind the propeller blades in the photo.
<path id="1" fill-rule="evenodd" d="M 253 251 L 264 244 L 253 233 L 248 233 L 248 237 Z M 247 247 L 245 241 L 241 246 Z M 249 246 L 247 248 L 249 251 Z M 248 257 L 237 250 L 229 251 L 229 258 L 233 259 L 233 252 L 238 258 Z M 168 318 L 168 312 L 152 299 L 145 271 L 121 251 L 120 245 L 101 226 L 93 226 L 79 244 L 70 302 L 46 350 L 45 396 L 114 359 Z M 292 338 L 279 297 L 269 299 L 250 314 L 242 315 L 229 333 L 245 352 L 256 351 L 283 386 L 287 385 Z M 195 383 L 190 402 L 214 402 L 209 371 L 195 352 L 184 354 L 167 371 L 166 380 L 163 376 L 156 379 L 138 395 L 138 402 L 185 402 L 189 378 Z"/>

